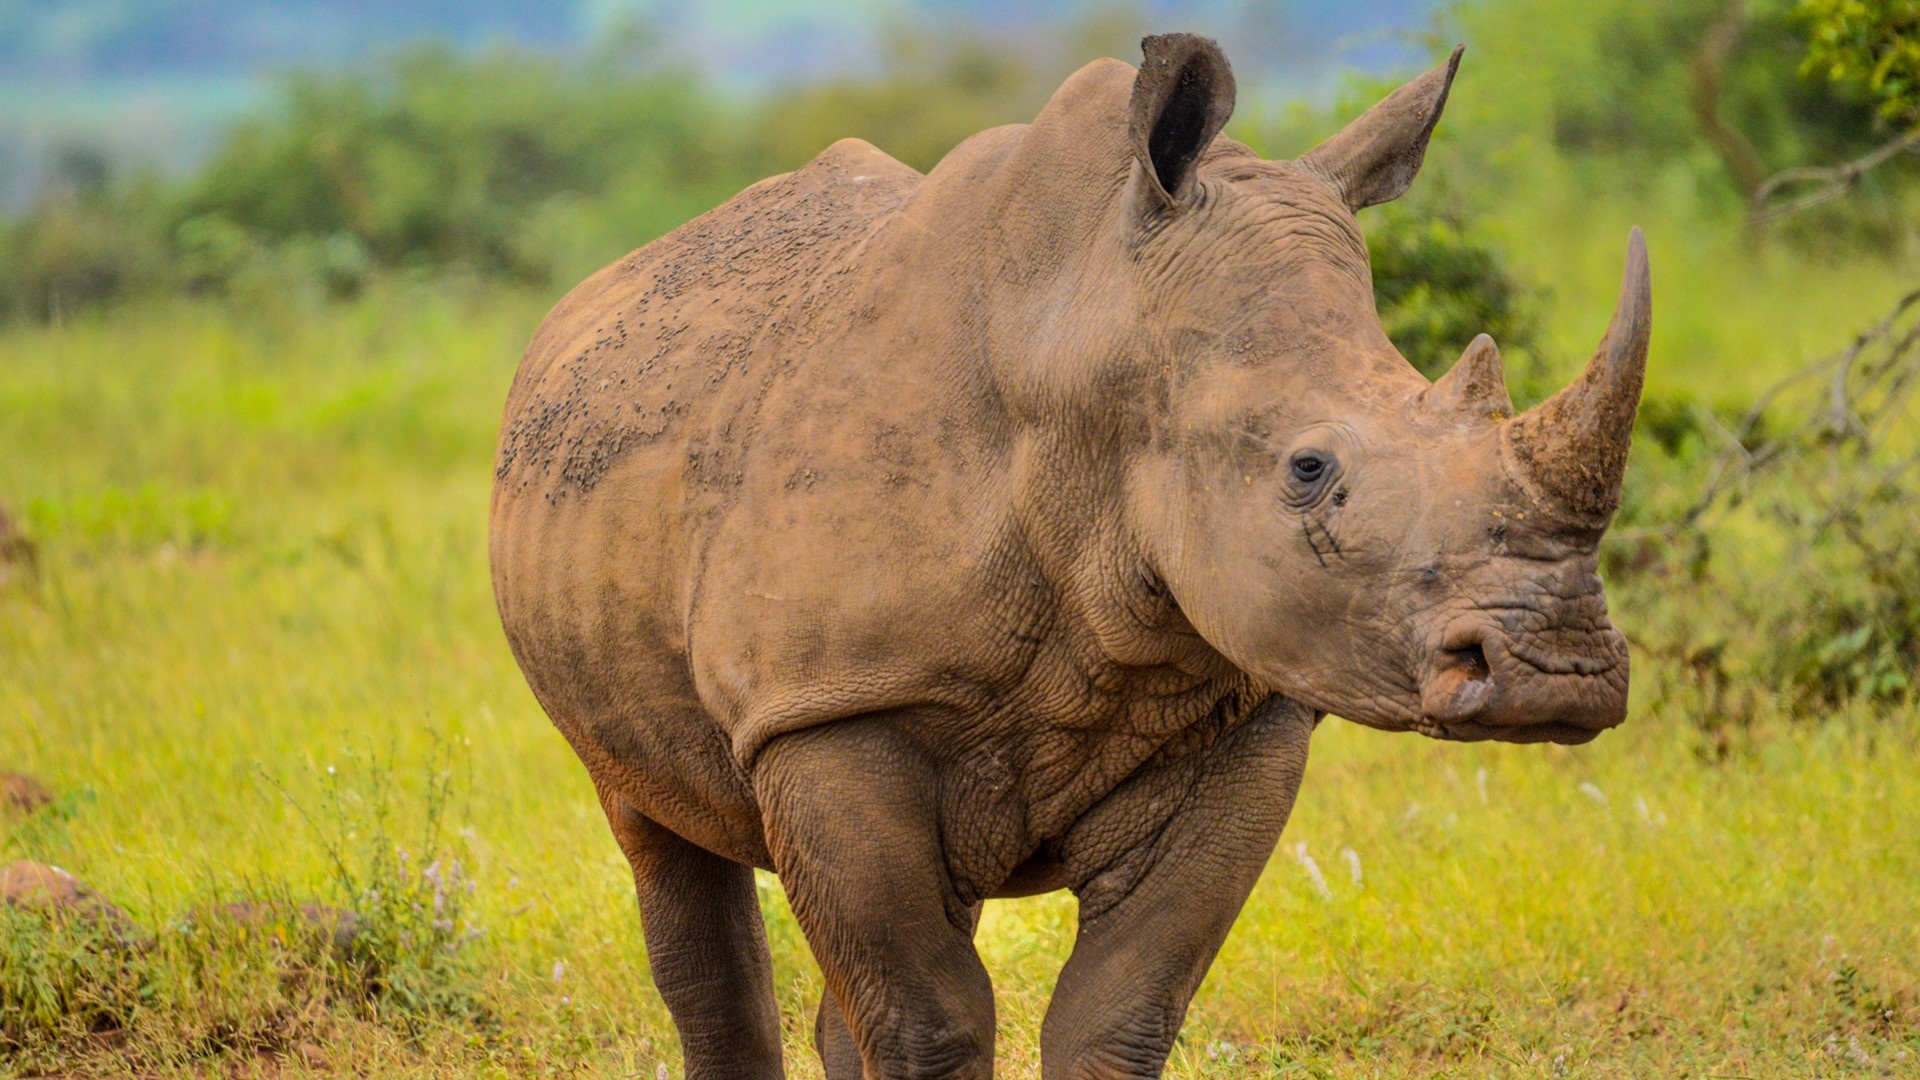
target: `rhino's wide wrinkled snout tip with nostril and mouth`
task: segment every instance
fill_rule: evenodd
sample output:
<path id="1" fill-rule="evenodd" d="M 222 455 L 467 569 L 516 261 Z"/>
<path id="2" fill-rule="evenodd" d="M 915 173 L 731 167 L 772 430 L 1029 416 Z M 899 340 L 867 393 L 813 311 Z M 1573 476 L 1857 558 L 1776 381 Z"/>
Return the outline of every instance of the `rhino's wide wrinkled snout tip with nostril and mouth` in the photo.
<path id="1" fill-rule="evenodd" d="M 1626 719 L 1626 638 L 1611 625 L 1536 655 L 1500 628 L 1455 625 L 1421 673 L 1423 730 L 1478 742 L 1588 742 Z"/>

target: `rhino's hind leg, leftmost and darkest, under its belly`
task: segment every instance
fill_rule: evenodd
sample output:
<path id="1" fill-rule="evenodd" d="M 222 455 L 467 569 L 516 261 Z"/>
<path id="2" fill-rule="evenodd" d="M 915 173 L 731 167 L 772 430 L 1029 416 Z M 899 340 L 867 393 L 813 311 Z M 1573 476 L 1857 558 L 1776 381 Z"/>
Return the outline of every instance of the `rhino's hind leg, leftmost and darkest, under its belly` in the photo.
<path id="1" fill-rule="evenodd" d="M 697 847 L 618 796 L 601 807 L 634 867 L 653 982 L 689 1080 L 783 1076 L 780 1007 L 753 869 Z"/>

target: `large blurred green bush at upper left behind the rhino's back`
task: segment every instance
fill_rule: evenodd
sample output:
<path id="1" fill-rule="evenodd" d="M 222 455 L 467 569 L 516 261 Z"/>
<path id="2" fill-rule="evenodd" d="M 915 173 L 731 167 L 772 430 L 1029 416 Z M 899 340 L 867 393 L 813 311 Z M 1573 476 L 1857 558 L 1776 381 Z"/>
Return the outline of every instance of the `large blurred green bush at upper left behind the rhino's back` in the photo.
<path id="1" fill-rule="evenodd" d="M 584 60 L 430 48 L 298 77 L 188 186 L 180 240 L 202 281 L 230 271 L 234 252 L 292 242 L 323 275 L 465 263 L 545 281 L 557 267 L 522 227 L 553 200 L 634 175 L 699 194 L 747 183 L 732 125 L 707 102 L 693 77 L 628 46 Z M 632 229 L 659 234 L 684 206 L 639 208 Z"/>

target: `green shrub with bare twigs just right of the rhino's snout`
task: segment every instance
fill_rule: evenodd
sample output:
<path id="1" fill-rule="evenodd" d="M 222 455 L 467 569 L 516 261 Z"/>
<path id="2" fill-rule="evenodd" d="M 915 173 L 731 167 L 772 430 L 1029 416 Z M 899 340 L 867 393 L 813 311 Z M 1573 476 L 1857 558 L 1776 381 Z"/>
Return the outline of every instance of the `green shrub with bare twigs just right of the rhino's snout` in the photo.
<path id="1" fill-rule="evenodd" d="M 1642 430 L 1665 452 L 1651 461 L 1653 482 L 1668 498 L 1626 505 L 1622 519 L 1640 542 L 1665 546 L 1665 561 L 1636 565 L 1615 546 L 1609 569 L 1665 571 L 1668 580 L 1644 598 L 1661 613 L 1647 642 L 1655 655 L 1711 682 L 1715 700 L 1751 703 L 1764 694 L 1801 715 L 1914 698 L 1914 384 L 1920 292 L 1849 346 L 1789 373 L 1745 417 L 1663 398 L 1642 409 Z M 1672 578 L 1713 603 L 1661 603 L 1655 594 Z M 1726 713 L 1745 715 L 1747 703 Z"/>

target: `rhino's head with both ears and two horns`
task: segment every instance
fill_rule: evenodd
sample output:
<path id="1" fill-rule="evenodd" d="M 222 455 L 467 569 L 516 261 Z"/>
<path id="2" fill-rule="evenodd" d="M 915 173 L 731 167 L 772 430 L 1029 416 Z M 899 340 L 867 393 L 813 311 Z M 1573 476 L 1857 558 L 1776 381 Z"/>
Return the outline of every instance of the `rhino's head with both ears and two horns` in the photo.
<path id="1" fill-rule="evenodd" d="M 1131 267 L 1100 348 L 1142 423 L 1125 517 L 1179 615 L 1315 709 L 1450 740 L 1586 742 L 1626 713 L 1596 548 L 1647 357 L 1638 229 L 1584 375 L 1515 415 L 1475 338 L 1428 382 L 1380 329 L 1361 208 L 1425 158 L 1455 52 L 1296 161 L 1215 138 L 1233 75 L 1148 38 L 1117 198 Z"/>

